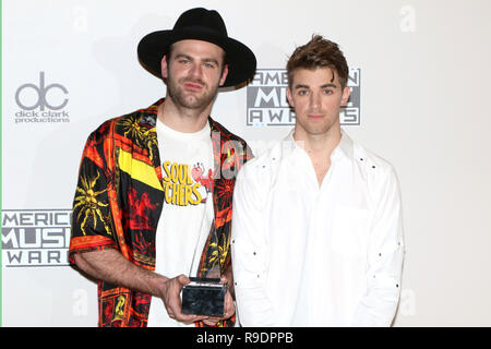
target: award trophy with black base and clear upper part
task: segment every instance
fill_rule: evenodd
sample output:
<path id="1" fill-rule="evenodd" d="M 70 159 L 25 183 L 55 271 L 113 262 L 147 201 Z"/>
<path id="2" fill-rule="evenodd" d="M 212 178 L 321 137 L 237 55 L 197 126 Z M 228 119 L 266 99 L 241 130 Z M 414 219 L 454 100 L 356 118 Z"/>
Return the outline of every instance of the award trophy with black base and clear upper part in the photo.
<path id="1" fill-rule="evenodd" d="M 223 317 L 225 315 L 225 294 L 228 291 L 228 285 L 220 282 L 220 254 L 218 249 L 218 239 L 214 227 L 212 227 L 212 241 L 214 240 L 213 242 L 216 243 L 212 243 L 212 241 L 209 241 L 208 249 L 213 249 L 209 253 L 216 255 L 217 261 L 212 268 L 207 268 L 204 273 L 202 270 L 201 277 L 197 277 L 200 273 L 196 273 L 196 277 L 190 277 L 191 282 L 184 285 L 182 288 L 181 312 L 183 314 L 217 317 Z M 191 269 L 193 268 L 194 260 L 196 257 L 196 250 L 194 251 Z"/>

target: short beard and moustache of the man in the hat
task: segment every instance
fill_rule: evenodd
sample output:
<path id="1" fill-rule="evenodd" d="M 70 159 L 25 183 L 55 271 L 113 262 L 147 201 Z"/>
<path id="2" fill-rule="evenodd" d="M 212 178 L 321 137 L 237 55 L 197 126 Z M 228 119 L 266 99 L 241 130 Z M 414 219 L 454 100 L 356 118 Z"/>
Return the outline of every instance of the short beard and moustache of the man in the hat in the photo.
<path id="1" fill-rule="evenodd" d="M 183 91 L 182 85 L 185 83 L 199 84 L 202 87 L 204 94 L 192 94 Z M 176 82 L 170 75 L 167 79 L 167 93 L 172 99 L 173 104 L 178 107 L 188 109 L 205 109 L 215 98 L 218 91 L 218 85 L 207 89 L 206 85 L 201 80 L 181 79 L 180 82 Z"/>

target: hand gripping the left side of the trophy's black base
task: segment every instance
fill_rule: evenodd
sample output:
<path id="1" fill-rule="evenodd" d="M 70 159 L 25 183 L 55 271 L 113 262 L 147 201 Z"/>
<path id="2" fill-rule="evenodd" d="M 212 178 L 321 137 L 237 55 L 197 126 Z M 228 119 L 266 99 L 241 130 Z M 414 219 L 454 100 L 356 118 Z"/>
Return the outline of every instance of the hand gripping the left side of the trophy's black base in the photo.
<path id="1" fill-rule="evenodd" d="M 168 279 L 161 292 L 161 300 L 166 306 L 170 318 L 179 321 L 184 324 L 192 324 L 196 321 L 202 321 L 208 316 L 188 315 L 181 313 L 181 289 L 189 284 L 190 279 L 185 275 L 179 275 L 175 278 Z"/>

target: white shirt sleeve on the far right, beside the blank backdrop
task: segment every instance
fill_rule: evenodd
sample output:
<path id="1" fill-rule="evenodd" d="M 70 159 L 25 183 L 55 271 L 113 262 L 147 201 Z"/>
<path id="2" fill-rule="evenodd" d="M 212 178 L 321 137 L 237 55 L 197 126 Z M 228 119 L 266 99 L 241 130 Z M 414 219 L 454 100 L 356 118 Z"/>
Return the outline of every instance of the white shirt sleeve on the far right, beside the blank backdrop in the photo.
<path id="1" fill-rule="evenodd" d="M 403 214 L 399 185 L 392 167 L 378 192 L 368 251 L 368 287 L 355 312 L 354 326 L 391 326 L 400 296 Z"/>

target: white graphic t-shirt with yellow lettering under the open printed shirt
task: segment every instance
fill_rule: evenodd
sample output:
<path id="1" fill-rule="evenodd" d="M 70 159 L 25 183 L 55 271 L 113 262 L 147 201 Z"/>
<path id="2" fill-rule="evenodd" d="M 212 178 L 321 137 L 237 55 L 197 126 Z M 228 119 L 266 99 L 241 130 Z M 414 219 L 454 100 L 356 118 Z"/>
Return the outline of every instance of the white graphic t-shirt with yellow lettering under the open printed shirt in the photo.
<path id="1" fill-rule="evenodd" d="M 182 133 L 157 119 L 165 200 L 155 238 L 155 272 L 169 278 L 180 274 L 196 275 L 212 227 L 213 145 L 209 133 L 208 123 L 199 132 Z M 148 326 L 187 325 L 170 318 L 163 300 L 152 297 Z"/>

